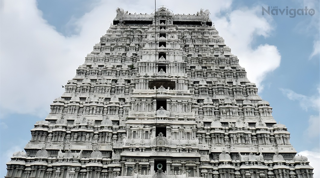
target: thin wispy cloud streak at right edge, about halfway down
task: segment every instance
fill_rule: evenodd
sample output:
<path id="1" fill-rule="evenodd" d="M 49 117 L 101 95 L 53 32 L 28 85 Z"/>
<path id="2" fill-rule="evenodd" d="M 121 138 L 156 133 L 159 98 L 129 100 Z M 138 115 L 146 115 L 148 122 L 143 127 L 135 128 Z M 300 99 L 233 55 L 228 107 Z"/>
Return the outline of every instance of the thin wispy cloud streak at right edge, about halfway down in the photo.
<path id="1" fill-rule="evenodd" d="M 308 111 L 308 109 L 314 109 L 319 111 L 320 109 L 320 93 L 314 96 L 308 97 L 292 91 L 291 89 L 280 89 L 282 93 L 292 101 L 299 101 L 300 107 Z M 319 89 L 318 89 L 319 90 Z M 319 90 L 320 91 L 320 90 Z"/>

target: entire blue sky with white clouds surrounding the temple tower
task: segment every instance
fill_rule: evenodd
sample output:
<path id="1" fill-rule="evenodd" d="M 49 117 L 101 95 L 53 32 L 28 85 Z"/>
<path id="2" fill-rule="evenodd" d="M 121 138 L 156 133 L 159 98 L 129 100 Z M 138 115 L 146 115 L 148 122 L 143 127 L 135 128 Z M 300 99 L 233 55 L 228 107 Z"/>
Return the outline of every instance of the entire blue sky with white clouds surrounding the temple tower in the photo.
<path id="1" fill-rule="evenodd" d="M 210 11 L 219 35 L 273 107 L 274 119 L 288 128 L 291 144 L 319 168 L 319 0 L 157 0 L 156 6 L 161 5 L 174 14 Z M 52 101 L 64 92 L 61 85 L 75 76 L 106 33 L 117 7 L 150 14 L 155 4 L 0 0 L 1 177 L 12 154 L 31 139 L 33 125 L 45 119 Z M 262 14 L 268 7 L 273 13 Z M 314 177 L 320 177 L 319 170 Z"/>

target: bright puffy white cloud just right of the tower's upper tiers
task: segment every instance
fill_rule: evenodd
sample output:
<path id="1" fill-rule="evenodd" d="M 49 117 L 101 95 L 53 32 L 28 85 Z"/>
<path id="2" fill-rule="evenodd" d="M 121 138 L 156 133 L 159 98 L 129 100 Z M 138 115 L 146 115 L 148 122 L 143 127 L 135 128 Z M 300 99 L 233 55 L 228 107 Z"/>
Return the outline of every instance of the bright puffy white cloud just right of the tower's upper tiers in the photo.
<path id="1" fill-rule="evenodd" d="M 215 26 L 231 52 L 238 56 L 239 64 L 246 69 L 251 82 L 263 89 L 261 82 L 266 74 L 280 66 L 281 55 L 276 46 L 260 44 L 252 48 L 254 37 L 268 37 L 273 30 L 268 17 L 258 16 L 261 6 L 236 10 L 226 17 L 214 17 Z"/>

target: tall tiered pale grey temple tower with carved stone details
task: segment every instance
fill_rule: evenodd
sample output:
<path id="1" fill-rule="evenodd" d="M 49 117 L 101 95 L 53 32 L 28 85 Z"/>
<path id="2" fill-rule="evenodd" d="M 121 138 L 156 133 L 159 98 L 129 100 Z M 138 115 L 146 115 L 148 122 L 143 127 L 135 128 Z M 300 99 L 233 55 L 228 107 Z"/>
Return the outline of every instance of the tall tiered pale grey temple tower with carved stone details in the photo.
<path id="1" fill-rule="evenodd" d="M 312 178 L 209 11 L 117 9 L 6 178 Z"/>

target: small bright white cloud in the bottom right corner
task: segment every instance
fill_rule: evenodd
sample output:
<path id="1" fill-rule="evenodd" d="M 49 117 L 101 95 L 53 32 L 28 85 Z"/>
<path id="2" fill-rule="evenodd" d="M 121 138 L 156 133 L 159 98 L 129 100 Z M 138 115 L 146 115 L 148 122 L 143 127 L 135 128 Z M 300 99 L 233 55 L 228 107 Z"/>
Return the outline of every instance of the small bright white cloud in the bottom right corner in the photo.
<path id="1" fill-rule="evenodd" d="M 308 158 L 308 161 L 310 162 L 309 165 L 312 166 L 313 169 L 313 177 L 319 178 L 320 177 L 320 152 L 314 152 L 314 151 L 301 151 L 298 153 L 298 155 L 306 156 Z"/>

